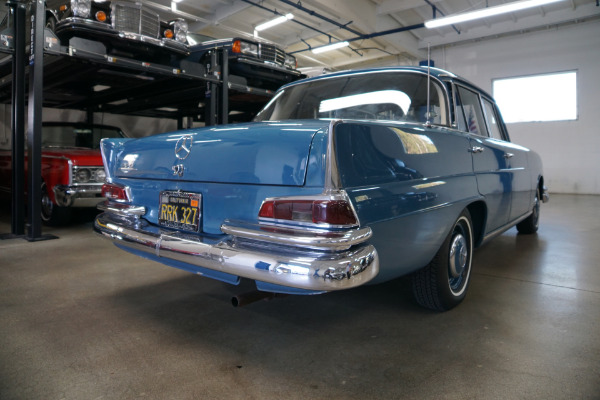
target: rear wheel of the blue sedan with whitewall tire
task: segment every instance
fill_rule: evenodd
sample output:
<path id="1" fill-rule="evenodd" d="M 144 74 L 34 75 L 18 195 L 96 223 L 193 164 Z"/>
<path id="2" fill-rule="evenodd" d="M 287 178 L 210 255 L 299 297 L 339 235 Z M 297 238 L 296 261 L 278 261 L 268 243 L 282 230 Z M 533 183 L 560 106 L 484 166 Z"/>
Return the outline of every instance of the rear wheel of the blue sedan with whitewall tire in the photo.
<path id="1" fill-rule="evenodd" d="M 413 274 L 415 300 L 436 311 L 456 307 L 467 294 L 472 261 L 473 223 L 465 209 L 433 260 Z"/>

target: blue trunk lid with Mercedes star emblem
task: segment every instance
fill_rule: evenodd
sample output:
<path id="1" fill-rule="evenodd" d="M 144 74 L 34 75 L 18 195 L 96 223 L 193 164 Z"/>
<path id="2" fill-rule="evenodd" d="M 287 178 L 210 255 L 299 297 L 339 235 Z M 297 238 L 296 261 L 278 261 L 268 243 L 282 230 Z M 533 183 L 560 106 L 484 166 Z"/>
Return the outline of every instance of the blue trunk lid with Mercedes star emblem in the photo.
<path id="1" fill-rule="evenodd" d="M 122 178 L 302 186 L 314 134 L 326 121 L 256 122 L 177 131 L 124 143 Z"/>

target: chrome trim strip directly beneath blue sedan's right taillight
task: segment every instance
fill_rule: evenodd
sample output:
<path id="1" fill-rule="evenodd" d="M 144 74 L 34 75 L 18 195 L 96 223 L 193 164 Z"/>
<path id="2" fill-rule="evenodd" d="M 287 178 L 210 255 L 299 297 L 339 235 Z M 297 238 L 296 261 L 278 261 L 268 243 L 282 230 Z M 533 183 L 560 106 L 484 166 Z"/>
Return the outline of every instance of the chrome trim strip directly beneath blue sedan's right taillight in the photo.
<path id="1" fill-rule="evenodd" d="M 316 231 L 233 221 L 225 221 L 221 225 L 221 231 L 228 235 L 260 242 L 320 250 L 347 250 L 365 242 L 373 235 L 369 227 L 342 231 Z"/>

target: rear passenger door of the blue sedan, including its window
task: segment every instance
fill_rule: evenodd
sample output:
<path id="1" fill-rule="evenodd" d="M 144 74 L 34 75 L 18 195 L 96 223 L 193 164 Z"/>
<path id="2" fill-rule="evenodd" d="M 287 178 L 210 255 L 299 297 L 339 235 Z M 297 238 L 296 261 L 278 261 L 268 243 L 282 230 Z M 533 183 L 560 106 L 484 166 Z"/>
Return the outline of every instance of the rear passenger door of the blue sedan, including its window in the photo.
<path id="1" fill-rule="evenodd" d="M 506 142 L 489 136 L 479 93 L 457 86 L 456 122 L 458 129 L 471 133 L 470 151 L 479 193 L 488 208 L 486 233 L 509 221 L 512 173 L 505 154 Z"/>

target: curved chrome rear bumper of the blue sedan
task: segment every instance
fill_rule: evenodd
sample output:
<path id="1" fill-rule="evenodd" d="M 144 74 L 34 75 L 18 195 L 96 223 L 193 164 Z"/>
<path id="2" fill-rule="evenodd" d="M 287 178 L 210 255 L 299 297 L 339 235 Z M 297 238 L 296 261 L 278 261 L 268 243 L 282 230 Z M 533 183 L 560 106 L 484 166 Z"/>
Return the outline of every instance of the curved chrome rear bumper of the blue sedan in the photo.
<path id="1" fill-rule="evenodd" d="M 216 237 L 167 231 L 140 219 L 135 207 L 129 213 L 126 206 L 111 209 L 107 203 L 99 207 L 109 211 L 96 218 L 97 233 L 125 250 L 141 252 L 171 266 L 173 262 L 184 263 L 183 269 L 199 274 L 209 276 L 202 272 L 208 269 L 277 286 L 324 292 L 363 285 L 379 272 L 377 251 L 364 243 L 370 236 L 369 228 L 356 235 L 319 238 L 315 240 L 317 245 L 307 247 L 310 240 L 304 237 L 295 242 L 290 232 L 271 232 L 269 236 L 275 239 L 270 240 L 266 232 L 260 232 L 257 238 L 248 233 L 248 228 L 240 230 L 235 225 L 224 226 L 222 230 L 230 234 Z M 235 236 L 236 232 L 242 233 Z M 346 245 L 340 245 L 339 238 Z M 339 250 L 343 247 L 348 248 Z"/>

